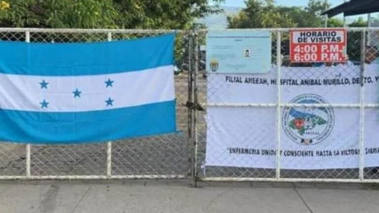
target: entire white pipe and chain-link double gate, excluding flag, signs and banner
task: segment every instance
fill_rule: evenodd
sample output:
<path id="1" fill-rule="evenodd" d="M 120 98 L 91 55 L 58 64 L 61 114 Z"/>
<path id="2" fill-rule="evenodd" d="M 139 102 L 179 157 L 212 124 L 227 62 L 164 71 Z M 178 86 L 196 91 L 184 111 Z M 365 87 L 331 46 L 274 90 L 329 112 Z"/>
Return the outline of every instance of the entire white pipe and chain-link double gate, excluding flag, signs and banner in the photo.
<path id="1" fill-rule="evenodd" d="M 267 29 L 265 29 L 267 30 Z M 288 63 L 290 29 L 269 29 L 272 36 L 272 64 L 276 66 L 277 80 Z M 346 68 L 351 77 L 365 77 L 364 62 L 368 54 L 378 54 L 379 28 L 347 28 L 347 54 L 360 63 L 356 73 Z M 233 30 L 228 30 L 233 31 Z M 255 29 L 260 31 L 260 29 Z M 75 145 L 31 145 L 0 143 L 0 179 L 114 179 L 114 178 L 191 178 L 194 181 L 333 181 L 379 182 L 379 175 L 364 168 L 364 142 L 367 137 L 367 112 L 378 110 L 378 104 L 365 104 L 365 84 L 359 91 L 359 102 L 331 103 L 328 106 L 353 110 L 359 122 L 359 168 L 334 170 L 284 170 L 281 156 L 276 154 L 275 169 L 204 166 L 207 142 L 207 96 L 209 88 L 217 90 L 224 85 L 208 85 L 204 50 L 207 30 L 85 30 L 85 29 L 0 29 L 0 39 L 24 42 L 89 42 L 131 39 L 175 33 L 176 102 L 179 132 L 149 138 L 107 143 Z M 374 35 L 374 36 L 373 36 Z M 375 36 L 376 35 L 376 36 Z M 284 57 L 283 57 L 284 56 Z M 290 69 L 291 73 L 291 67 Z M 295 70 L 293 70 L 295 73 Z M 306 71 L 304 76 L 316 77 Z M 275 126 L 269 132 L 250 132 L 247 137 L 262 140 L 274 135 L 273 149 L 281 150 L 281 111 L 293 106 L 283 103 L 282 86 L 277 84 L 276 103 L 249 103 L 247 105 L 221 104 L 217 107 L 245 107 L 251 113 L 266 108 L 275 115 Z M 328 91 L 325 90 L 325 93 Z M 307 106 L 309 107 L 309 106 Z M 316 106 L 313 106 L 316 107 Z M 233 125 L 233 124 L 231 124 Z M 264 125 L 264 124 L 263 124 Z M 209 130 L 212 131 L 212 130 Z M 378 145 L 379 146 L 379 145 Z"/>

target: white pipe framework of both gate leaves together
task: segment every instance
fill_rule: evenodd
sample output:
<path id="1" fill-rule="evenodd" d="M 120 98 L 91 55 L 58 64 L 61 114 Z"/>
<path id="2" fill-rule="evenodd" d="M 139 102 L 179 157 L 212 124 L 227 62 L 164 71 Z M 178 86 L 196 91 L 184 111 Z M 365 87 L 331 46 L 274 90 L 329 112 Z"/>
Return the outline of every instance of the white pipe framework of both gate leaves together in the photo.
<path id="1" fill-rule="evenodd" d="M 315 28 L 301 28 L 301 30 L 315 29 Z M 318 28 L 324 29 L 324 28 Z M 379 31 L 379 28 L 344 28 L 347 32 L 361 32 L 361 89 L 360 89 L 360 104 L 350 104 L 350 105 L 328 105 L 334 107 L 346 107 L 346 108 L 359 108 L 360 109 L 360 133 L 359 133 L 359 148 L 364 149 L 364 110 L 365 108 L 378 108 L 379 104 L 364 104 L 364 89 L 362 78 L 364 74 L 364 61 L 365 61 L 365 47 L 366 47 L 366 33 L 371 31 Z M 289 28 L 276 28 L 276 29 L 225 29 L 222 31 L 235 31 L 235 30 L 246 30 L 246 31 L 271 31 L 277 33 L 276 35 L 276 66 L 278 71 L 277 80 L 280 81 L 281 75 L 281 39 L 282 33 L 288 33 L 291 29 Z M 134 30 L 134 29 L 42 29 L 42 28 L 0 28 L 0 32 L 12 32 L 12 33 L 24 33 L 25 41 L 30 42 L 31 33 L 97 33 L 107 35 L 107 40 L 111 41 L 112 36 L 115 33 L 118 34 L 149 34 L 149 33 L 188 33 L 189 36 L 189 70 L 188 70 L 188 137 L 187 144 L 189 155 L 189 168 L 188 175 L 112 175 L 112 142 L 107 142 L 107 168 L 106 175 L 101 176 L 32 176 L 31 175 L 31 144 L 26 144 L 26 172 L 25 176 L 0 176 L 1 179 L 185 179 L 191 178 L 194 185 L 197 181 L 280 181 L 280 182 L 360 182 L 360 183 L 379 183 L 379 179 L 365 179 L 364 178 L 364 154 L 361 151 L 359 156 L 359 178 L 355 179 L 344 179 L 344 178 L 281 178 L 280 177 L 280 155 L 279 150 L 281 147 L 280 140 L 280 124 L 281 124 L 281 107 L 285 106 L 299 106 L 296 104 L 283 104 L 281 103 L 281 86 L 278 83 L 277 86 L 277 103 L 276 104 L 248 104 L 248 105 L 223 105 L 223 106 L 238 106 L 238 107 L 276 107 L 277 109 L 277 154 L 276 154 L 276 169 L 275 178 L 238 178 L 238 177 L 199 177 L 198 176 L 198 110 L 199 107 L 212 106 L 208 103 L 202 104 L 198 100 L 198 72 L 199 72 L 199 33 L 206 33 L 208 30 L 192 30 L 192 31 L 182 31 L 182 30 Z M 278 81 L 278 82 L 279 82 Z M 217 105 L 213 105 L 217 106 Z"/>

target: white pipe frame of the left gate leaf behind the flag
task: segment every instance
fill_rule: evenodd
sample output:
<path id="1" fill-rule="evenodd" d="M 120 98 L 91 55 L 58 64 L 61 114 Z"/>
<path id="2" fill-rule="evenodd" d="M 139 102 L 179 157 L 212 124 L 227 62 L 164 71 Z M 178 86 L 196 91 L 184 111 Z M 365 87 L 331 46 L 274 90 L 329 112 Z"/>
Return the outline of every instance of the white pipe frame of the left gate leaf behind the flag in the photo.
<path id="1" fill-rule="evenodd" d="M 7 33 L 7 32 L 11 32 L 11 33 L 24 33 L 25 34 L 25 42 L 30 42 L 30 34 L 31 33 L 61 33 L 61 34 L 69 34 L 69 33 L 73 33 L 73 34 L 104 34 L 107 36 L 107 41 L 112 41 L 112 36 L 113 34 L 117 33 L 117 34 L 146 34 L 146 35 L 149 35 L 149 34 L 159 34 L 159 33 L 189 33 L 189 31 L 184 31 L 184 30 L 135 30 L 135 29 L 50 29 L 50 28 L 0 28 L 0 33 Z M 191 43 L 193 43 L 193 36 L 189 35 L 189 41 L 190 41 L 190 45 Z M 189 60 L 192 61 L 192 56 L 191 56 L 191 48 L 193 47 L 189 47 Z M 189 61 L 190 62 L 190 61 Z M 189 69 L 188 71 L 189 73 L 189 77 L 188 77 L 188 98 L 189 100 L 192 100 L 192 98 L 190 99 L 190 97 L 192 97 L 192 89 L 190 89 L 190 87 L 192 87 L 192 81 L 193 81 L 193 76 L 190 76 L 192 73 L 192 71 Z M 195 111 L 195 109 L 190 109 L 190 107 L 188 106 L 188 122 L 191 122 L 193 119 L 194 119 L 194 116 L 192 115 L 192 113 Z M 190 112 L 191 111 L 191 112 Z M 192 127 L 189 125 L 188 123 L 188 131 L 189 131 L 189 137 L 187 137 L 187 144 L 188 144 L 188 150 L 191 150 L 191 147 L 190 147 L 190 137 L 192 137 L 192 133 L 191 131 L 193 131 L 193 127 L 195 125 L 193 125 Z M 107 162 L 106 162 L 106 165 L 107 165 L 107 168 L 106 168 L 106 175 L 48 175 L 48 176 L 33 176 L 31 175 L 31 147 L 32 147 L 32 144 L 30 143 L 27 143 L 25 144 L 26 145 L 26 155 L 25 155 L 25 159 L 26 159 L 26 163 L 25 163 L 25 176 L 9 176 L 9 175 L 6 175 L 6 176 L 0 176 L 0 180 L 47 180 L 47 179 L 187 179 L 189 177 L 194 177 L 194 175 L 191 174 L 191 170 L 192 170 L 192 158 L 189 158 L 189 168 L 188 168 L 188 174 L 186 175 L 112 175 L 112 142 L 106 142 L 107 144 Z M 191 153 L 194 153 L 192 151 L 190 151 L 190 153 L 188 153 L 189 155 L 191 155 Z"/>

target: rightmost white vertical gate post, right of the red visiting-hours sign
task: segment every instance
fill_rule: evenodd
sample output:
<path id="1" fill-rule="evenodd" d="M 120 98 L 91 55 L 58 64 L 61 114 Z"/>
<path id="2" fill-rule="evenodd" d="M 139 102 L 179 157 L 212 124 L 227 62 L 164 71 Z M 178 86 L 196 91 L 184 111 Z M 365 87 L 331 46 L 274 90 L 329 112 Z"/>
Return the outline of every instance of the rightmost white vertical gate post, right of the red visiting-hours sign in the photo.
<path id="1" fill-rule="evenodd" d="M 363 29 L 361 32 L 361 70 L 360 70 L 360 116 L 359 116 L 359 179 L 363 181 L 364 179 L 364 119 L 365 119 L 365 84 L 364 84 L 364 71 L 365 71 L 365 61 L 366 61 L 366 31 Z"/>

